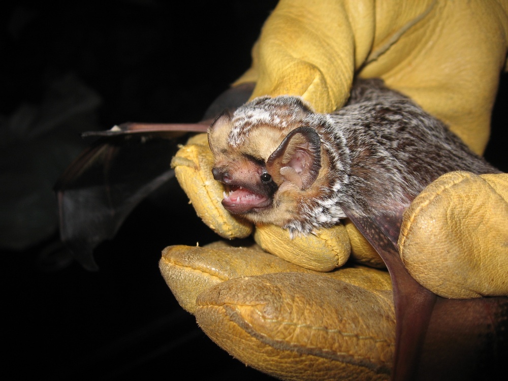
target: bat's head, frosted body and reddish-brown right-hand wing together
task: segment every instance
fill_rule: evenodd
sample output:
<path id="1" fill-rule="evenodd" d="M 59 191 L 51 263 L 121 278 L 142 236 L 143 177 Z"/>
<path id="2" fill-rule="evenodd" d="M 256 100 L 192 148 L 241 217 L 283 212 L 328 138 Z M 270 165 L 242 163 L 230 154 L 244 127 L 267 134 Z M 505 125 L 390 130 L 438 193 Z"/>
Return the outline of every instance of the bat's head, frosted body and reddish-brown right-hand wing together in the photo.
<path id="1" fill-rule="evenodd" d="M 426 185 L 455 170 L 499 173 L 441 121 L 382 80 L 357 80 L 332 114 L 298 97 L 260 97 L 217 117 L 208 141 L 229 212 L 292 235 L 347 217 L 383 258 L 396 311 L 392 379 L 479 379 L 501 369 L 507 352 L 493 342 L 508 338 L 508 298 L 438 297 L 398 254 L 402 214 Z"/>

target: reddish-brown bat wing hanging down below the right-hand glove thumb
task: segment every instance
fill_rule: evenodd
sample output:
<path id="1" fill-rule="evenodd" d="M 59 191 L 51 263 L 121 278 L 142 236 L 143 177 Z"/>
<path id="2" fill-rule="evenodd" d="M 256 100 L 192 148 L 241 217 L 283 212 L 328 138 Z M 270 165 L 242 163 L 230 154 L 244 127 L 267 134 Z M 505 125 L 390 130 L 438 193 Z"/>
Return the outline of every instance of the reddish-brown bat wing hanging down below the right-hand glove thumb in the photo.
<path id="1" fill-rule="evenodd" d="M 400 216 L 360 217 L 344 211 L 383 258 L 392 278 L 397 321 L 392 379 L 477 380 L 499 374 L 503 379 L 508 298 L 438 297 L 412 278 L 400 259 Z"/>

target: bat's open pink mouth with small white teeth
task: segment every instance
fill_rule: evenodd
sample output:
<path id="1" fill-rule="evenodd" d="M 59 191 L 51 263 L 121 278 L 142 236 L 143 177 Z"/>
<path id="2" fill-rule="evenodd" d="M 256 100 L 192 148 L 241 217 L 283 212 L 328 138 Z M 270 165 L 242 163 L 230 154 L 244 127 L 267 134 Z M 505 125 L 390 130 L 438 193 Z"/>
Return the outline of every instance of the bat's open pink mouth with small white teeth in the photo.
<path id="1" fill-rule="evenodd" d="M 270 207 L 272 200 L 266 196 L 251 192 L 251 190 L 245 187 L 229 185 L 226 186 L 222 204 L 229 212 L 242 214 L 248 213 L 253 209 L 259 210 Z"/>

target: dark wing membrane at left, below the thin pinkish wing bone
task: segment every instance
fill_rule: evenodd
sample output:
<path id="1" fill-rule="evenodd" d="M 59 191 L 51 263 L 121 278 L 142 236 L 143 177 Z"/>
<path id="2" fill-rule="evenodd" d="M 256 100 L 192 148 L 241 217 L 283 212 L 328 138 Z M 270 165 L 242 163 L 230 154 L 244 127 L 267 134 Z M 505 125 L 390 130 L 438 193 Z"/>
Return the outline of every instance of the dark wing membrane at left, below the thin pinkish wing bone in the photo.
<path id="1" fill-rule="evenodd" d="M 60 238 L 76 259 L 97 270 L 93 248 L 111 239 L 129 213 L 174 176 L 176 141 L 136 134 L 101 138 L 55 185 Z"/>

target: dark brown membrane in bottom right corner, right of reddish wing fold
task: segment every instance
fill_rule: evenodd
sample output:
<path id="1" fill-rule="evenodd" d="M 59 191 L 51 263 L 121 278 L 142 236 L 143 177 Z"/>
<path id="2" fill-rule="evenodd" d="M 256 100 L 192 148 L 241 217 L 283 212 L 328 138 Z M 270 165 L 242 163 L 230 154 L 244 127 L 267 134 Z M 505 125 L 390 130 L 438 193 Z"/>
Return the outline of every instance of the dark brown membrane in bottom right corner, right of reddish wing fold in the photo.
<path id="1" fill-rule="evenodd" d="M 436 297 L 418 379 L 505 380 L 506 361 L 508 298 Z"/>

